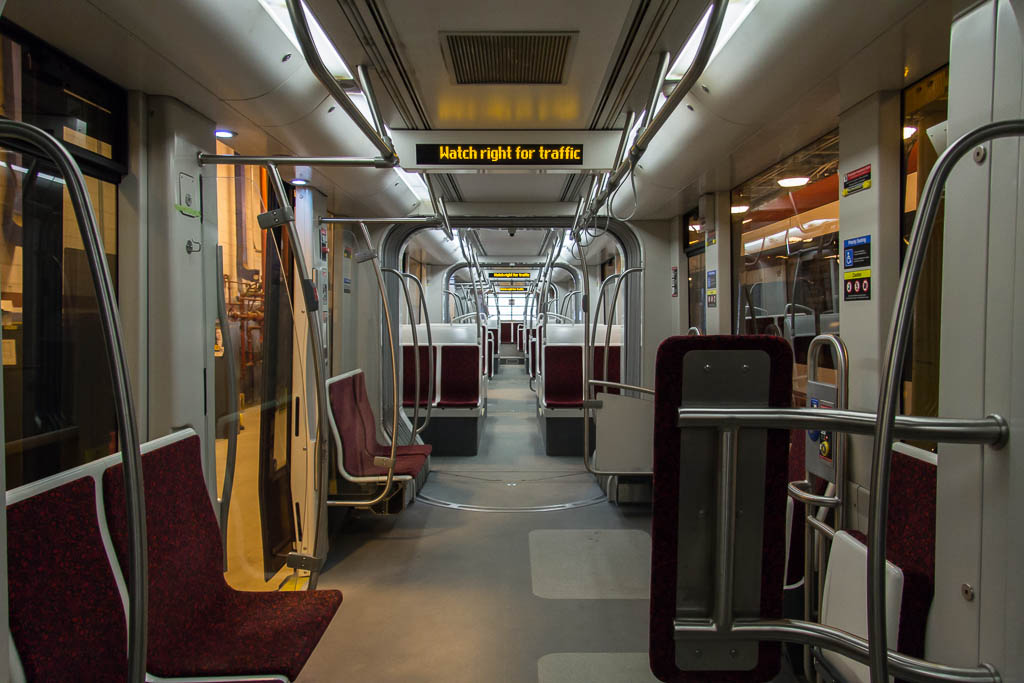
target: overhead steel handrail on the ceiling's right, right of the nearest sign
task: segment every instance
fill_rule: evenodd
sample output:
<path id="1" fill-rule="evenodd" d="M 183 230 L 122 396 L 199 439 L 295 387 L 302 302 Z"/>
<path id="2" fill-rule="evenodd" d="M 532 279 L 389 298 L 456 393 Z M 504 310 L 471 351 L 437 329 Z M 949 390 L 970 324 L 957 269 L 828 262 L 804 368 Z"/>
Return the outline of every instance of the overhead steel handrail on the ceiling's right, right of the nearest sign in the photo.
<path id="1" fill-rule="evenodd" d="M 294 2 L 295 0 L 289 0 Z M 697 79 L 703 73 L 705 67 L 711 60 L 712 51 L 715 49 L 715 43 L 718 41 L 718 35 L 722 30 L 722 24 L 725 22 L 725 9 L 728 6 L 728 0 L 712 0 L 709 5 L 711 6 L 711 14 L 708 19 L 708 28 L 705 30 L 703 36 L 700 38 L 700 43 L 697 46 L 696 54 L 693 56 L 693 62 L 690 65 L 686 73 L 683 74 L 682 79 L 680 79 L 676 85 L 673 87 L 672 92 L 669 93 L 668 99 L 665 104 L 662 105 L 655 114 L 650 117 L 650 123 L 642 128 L 637 133 L 636 141 L 633 142 L 633 146 L 630 148 L 628 159 L 622 161 L 615 170 L 608 177 L 607 183 L 604 184 L 603 189 L 597 194 L 594 201 L 589 203 L 589 206 L 585 207 L 586 211 L 583 212 L 583 220 L 579 221 L 579 224 L 587 225 L 593 220 L 601 207 L 608 198 L 618 189 L 623 180 L 626 179 L 626 175 L 631 173 L 633 169 L 640 162 L 641 157 L 647 151 L 650 145 L 651 140 L 657 135 L 657 132 L 662 129 L 662 126 L 669 120 L 672 113 L 676 111 L 676 108 L 683 101 L 683 98 L 689 93 L 689 91 L 696 84 Z M 663 83 L 656 83 L 655 86 L 657 90 L 660 90 Z M 657 101 L 652 96 L 652 101 Z"/>

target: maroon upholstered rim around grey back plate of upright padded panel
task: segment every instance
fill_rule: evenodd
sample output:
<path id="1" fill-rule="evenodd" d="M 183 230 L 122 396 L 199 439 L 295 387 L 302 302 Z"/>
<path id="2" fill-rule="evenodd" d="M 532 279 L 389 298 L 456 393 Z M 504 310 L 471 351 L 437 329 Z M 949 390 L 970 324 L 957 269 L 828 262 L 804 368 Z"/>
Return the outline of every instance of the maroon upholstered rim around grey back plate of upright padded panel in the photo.
<path id="1" fill-rule="evenodd" d="M 779 671 L 778 643 L 761 643 L 758 664 L 744 672 L 681 671 L 676 667 L 673 621 L 676 615 L 679 538 L 680 428 L 683 356 L 702 350 L 763 350 L 771 361 L 769 405 L 793 403 L 793 352 L 778 337 L 670 337 L 657 350 L 654 370 L 654 488 L 651 521 L 650 667 L 662 681 L 748 683 L 771 680 Z M 785 488 L 790 432 L 769 430 L 765 473 L 764 540 L 761 556 L 761 617 L 782 614 Z"/>

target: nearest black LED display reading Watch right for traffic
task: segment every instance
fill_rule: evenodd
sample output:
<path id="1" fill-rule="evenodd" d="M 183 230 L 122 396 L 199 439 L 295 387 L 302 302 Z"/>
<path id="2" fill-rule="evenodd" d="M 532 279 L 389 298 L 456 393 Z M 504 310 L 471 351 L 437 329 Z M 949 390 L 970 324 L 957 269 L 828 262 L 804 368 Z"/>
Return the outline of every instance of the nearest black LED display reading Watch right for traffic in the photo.
<path id="1" fill-rule="evenodd" d="M 583 166 L 582 144 L 417 143 L 417 166 Z"/>

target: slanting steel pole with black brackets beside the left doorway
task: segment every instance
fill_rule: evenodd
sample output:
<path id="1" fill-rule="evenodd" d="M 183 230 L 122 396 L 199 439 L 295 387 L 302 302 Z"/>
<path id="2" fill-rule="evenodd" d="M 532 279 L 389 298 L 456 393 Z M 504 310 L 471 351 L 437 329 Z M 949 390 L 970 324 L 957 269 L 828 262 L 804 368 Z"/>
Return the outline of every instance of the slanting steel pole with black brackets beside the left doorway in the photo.
<path id="1" fill-rule="evenodd" d="M 290 207 L 292 204 L 288 198 L 288 189 L 285 181 L 281 178 L 281 171 L 274 164 L 266 165 L 267 176 L 270 179 L 270 186 L 278 204 L 282 207 Z M 309 326 L 309 337 L 312 340 L 313 355 L 313 381 L 316 394 L 316 438 L 313 450 L 314 474 L 313 492 L 316 494 L 316 533 L 313 539 L 312 556 L 323 565 L 327 559 L 327 424 L 328 424 L 328 397 L 327 397 L 327 360 L 324 357 L 324 336 L 321 330 L 317 312 L 319 301 L 316 298 L 316 286 L 309 278 L 309 268 L 306 265 L 306 257 L 302 251 L 302 241 L 299 239 L 298 228 L 295 226 L 294 217 L 288 221 L 285 234 L 292 247 L 292 258 L 295 259 L 295 268 L 299 273 L 299 283 L 302 290 L 302 300 L 306 307 L 306 324 Z M 309 589 L 316 588 L 319 578 L 319 569 L 309 572 Z"/>

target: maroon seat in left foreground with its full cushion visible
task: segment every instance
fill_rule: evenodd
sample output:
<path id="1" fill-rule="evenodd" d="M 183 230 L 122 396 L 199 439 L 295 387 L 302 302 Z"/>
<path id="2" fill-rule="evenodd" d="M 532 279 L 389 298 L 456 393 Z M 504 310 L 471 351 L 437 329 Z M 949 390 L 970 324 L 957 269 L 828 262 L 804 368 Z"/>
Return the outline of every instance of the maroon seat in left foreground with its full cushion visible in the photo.
<path id="1" fill-rule="evenodd" d="M 236 591 L 191 436 L 142 457 L 150 540 L 150 645 L 157 676 L 278 674 L 295 679 L 341 604 L 339 591 Z M 121 466 L 103 473 L 111 538 L 127 566 Z"/>

